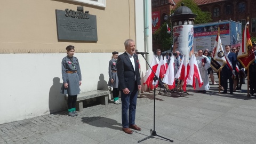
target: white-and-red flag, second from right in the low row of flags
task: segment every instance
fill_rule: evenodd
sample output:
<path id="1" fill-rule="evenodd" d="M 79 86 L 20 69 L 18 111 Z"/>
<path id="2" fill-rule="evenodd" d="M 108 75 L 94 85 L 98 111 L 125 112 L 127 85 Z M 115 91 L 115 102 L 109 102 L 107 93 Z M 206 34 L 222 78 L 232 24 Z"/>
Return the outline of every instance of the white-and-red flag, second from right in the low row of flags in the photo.
<path id="1" fill-rule="evenodd" d="M 182 89 L 186 92 L 187 87 L 187 61 L 186 61 L 186 55 L 183 55 L 181 60 L 181 65 L 179 67 L 179 70 L 177 71 L 177 74 L 175 75 L 175 78 L 182 80 Z"/>

